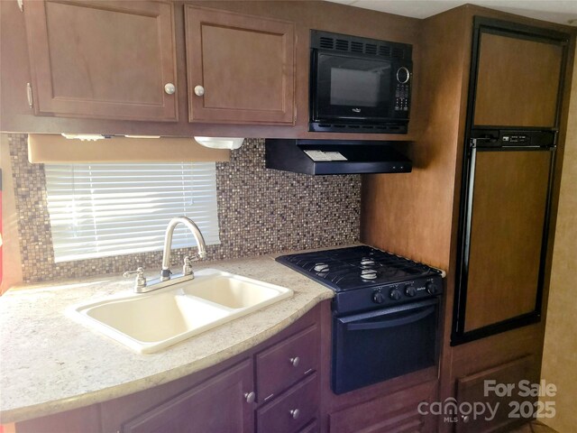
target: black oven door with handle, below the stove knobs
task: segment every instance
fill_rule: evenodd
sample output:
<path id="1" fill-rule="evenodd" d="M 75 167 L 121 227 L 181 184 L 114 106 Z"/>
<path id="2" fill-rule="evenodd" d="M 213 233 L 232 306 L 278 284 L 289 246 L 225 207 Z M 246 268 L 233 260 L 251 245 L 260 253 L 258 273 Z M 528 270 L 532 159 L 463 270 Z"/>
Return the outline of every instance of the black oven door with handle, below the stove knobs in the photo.
<path id="1" fill-rule="evenodd" d="M 341 394 L 436 364 L 439 299 L 334 317 L 333 392 Z"/>

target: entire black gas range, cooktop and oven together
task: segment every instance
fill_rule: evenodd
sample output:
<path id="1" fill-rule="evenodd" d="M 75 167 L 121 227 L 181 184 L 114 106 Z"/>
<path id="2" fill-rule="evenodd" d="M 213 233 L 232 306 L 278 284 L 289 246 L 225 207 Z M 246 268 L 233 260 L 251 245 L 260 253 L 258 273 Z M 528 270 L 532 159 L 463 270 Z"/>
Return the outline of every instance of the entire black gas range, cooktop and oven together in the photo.
<path id="1" fill-rule="evenodd" d="M 366 245 L 277 261 L 334 290 L 334 393 L 426 368 L 435 374 L 443 272 Z"/>

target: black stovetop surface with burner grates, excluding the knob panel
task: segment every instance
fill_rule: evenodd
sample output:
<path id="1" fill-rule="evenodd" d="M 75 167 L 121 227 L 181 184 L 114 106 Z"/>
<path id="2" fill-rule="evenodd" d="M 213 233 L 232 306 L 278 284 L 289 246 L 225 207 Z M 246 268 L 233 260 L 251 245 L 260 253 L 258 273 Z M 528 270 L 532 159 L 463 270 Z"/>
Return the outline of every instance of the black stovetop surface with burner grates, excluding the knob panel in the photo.
<path id="1" fill-rule="evenodd" d="M 277 261 L 334 291 L 356 290 L 441 273 L 426 264 L 366 245 L 283 255 Z"/>

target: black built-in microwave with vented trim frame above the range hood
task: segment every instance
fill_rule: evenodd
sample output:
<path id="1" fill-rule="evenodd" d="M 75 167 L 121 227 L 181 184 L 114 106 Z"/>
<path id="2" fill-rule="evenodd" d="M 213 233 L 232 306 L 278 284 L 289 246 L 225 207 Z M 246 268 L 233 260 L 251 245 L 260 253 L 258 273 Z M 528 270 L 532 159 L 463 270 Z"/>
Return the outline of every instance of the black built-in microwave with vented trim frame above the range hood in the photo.
<path id="1" fill-rule="evenodd" d="M 309 131 L 407 134 L 412 45 L 311 31 Z"/>

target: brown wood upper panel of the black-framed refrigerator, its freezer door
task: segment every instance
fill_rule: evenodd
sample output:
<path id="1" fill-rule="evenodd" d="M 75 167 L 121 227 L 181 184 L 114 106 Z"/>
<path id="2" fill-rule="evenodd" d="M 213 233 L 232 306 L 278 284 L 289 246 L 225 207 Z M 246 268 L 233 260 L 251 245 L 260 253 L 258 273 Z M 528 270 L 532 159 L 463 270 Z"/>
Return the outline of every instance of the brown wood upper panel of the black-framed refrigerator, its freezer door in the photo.
<path id="1" fill-rule="evenodd" d="M 489 25 L 479 37 L 473 124 L 558 127 L 563 45 L 545 35 Z"/>

